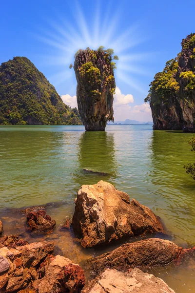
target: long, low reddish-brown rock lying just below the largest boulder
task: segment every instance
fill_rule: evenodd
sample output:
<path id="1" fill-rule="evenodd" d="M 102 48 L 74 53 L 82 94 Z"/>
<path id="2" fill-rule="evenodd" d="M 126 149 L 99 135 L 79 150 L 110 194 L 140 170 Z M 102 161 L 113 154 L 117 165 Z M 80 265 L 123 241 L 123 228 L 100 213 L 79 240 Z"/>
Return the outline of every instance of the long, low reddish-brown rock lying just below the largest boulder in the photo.
<path id="1" fill-rule="evenodd" d="M 96 273 L 105 268 L 126 271 L 135 267 L 164 267 L 172 262 L 180 264 L 186 257 L 194 256 L 195 248 L 186 250 L 171 241 L 150 238 L 124 244 L 114 251 L 91 258 L 88 267 Z"/>

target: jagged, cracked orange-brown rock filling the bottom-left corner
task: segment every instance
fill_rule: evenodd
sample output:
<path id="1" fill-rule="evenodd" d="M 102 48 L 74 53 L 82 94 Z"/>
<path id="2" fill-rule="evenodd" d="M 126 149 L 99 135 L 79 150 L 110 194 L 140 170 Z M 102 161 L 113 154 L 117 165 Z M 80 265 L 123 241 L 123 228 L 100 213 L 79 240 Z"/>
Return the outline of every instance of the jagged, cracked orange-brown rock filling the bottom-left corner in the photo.
<path id="1" fill-rule="evenodd" d="M 37 267 L 54 249 L 53 243 L 38 242 L 16 248 L 0 247 L 0 290 L 18 292 L 33 287 L 39 278 Z M 26 291 L 23 292 L 33 292 Z"/>

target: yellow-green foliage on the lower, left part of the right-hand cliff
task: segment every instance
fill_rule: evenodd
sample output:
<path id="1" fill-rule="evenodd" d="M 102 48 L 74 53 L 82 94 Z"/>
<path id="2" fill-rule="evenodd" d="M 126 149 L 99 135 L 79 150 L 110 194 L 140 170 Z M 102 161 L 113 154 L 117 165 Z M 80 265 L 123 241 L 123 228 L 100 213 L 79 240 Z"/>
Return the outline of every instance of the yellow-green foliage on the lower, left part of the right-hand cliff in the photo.
<path id="1" fill-rule="evenodd" d="M 176 93 L 179 84 L 176 81 L 176 72 L 178 69 L 177 58 L 169 60 L 162 72 L 155 75 L 154 81 L 150 84 L 150 90 L 147 98 L 144 100 L 150 102 L 151 96 L 157 100 L 166 102 L 170 95 Z"/>

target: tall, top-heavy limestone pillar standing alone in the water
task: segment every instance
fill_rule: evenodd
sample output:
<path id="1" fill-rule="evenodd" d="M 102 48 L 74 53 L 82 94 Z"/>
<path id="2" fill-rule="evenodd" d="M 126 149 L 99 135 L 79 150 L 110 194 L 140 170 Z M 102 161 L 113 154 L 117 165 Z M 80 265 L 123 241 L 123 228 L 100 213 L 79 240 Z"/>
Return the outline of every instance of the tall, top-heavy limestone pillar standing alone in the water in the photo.
<path id="1" fill-rule="evenodd" d="M 78 112 L 87 131 L 105 130 L 113 118 L 115 78 L 104 50 L 79 50 L 75 56 Z"/>

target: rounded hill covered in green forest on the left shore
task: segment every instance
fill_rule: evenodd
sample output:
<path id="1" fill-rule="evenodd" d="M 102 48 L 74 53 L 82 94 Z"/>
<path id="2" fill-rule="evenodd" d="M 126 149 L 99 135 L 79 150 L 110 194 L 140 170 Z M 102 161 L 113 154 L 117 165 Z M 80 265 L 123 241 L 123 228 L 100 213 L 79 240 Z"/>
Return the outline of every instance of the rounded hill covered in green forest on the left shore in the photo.
<path id="1" fill-rule="evenodd" d="M 65 105 L 45 76 L 25 57 L 0 66 L 0 125 L 78 125 L 78 110 Z"/>

